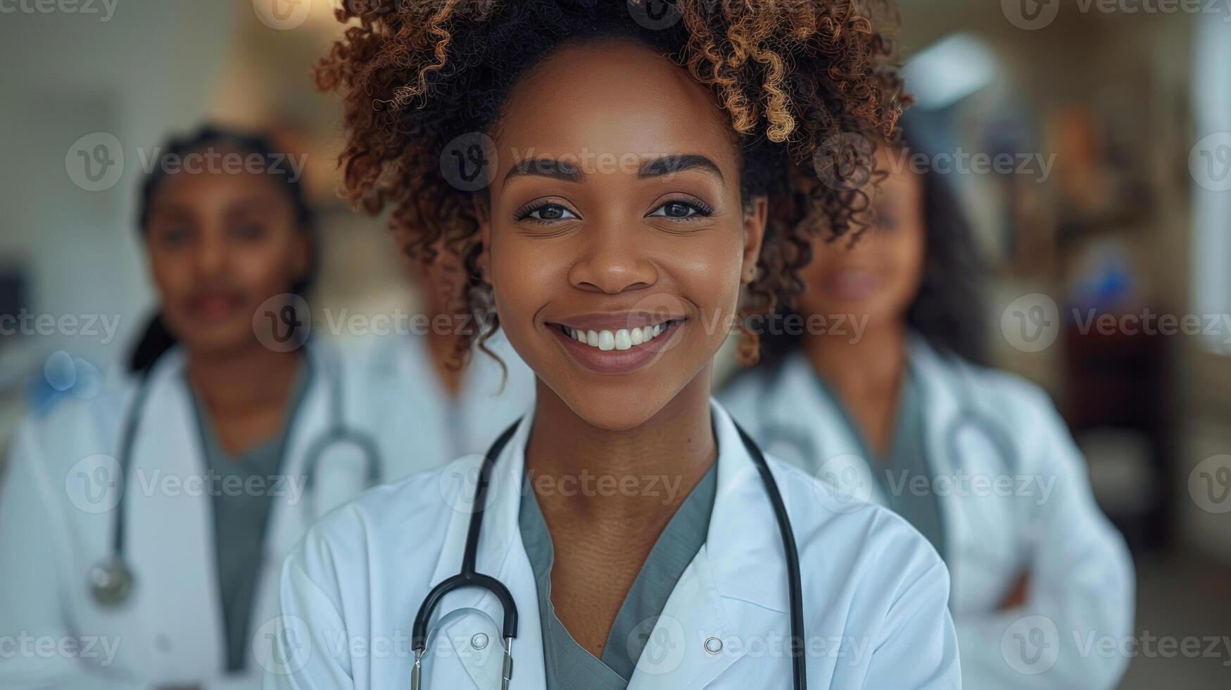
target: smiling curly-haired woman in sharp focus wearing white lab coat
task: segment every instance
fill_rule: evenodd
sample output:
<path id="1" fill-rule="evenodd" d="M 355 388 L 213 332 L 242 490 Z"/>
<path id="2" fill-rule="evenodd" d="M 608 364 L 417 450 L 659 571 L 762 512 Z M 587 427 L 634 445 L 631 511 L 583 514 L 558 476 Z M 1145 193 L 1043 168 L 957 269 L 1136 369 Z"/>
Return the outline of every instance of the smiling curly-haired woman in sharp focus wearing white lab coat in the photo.
<path id="1" fill-rule="evenodd" d="M 960 686 L 936 551 L 767 462 L 710 398 L 741 288 L 789 296 L 783 253 L 815 229 L 792 180 L 849 228 L 856 202 L 794 161 L 826 123 L 892 128 L 888 43 L 863 21 L 687 9 L 652 28 L 623 0 L 340 10 L 363 28 L 318 76 L 346 102 L 345 191 L 393 203 L 411 251 L 448 238 L 464 313 L 494 307 L 535 398 L 487 461 L 377 488 L 309 532 L 270 688 Z M 721 54 L 748 31 L 756 58 Z M 809 81 L 828 69 L 878 74 L 885 120 Z"/>

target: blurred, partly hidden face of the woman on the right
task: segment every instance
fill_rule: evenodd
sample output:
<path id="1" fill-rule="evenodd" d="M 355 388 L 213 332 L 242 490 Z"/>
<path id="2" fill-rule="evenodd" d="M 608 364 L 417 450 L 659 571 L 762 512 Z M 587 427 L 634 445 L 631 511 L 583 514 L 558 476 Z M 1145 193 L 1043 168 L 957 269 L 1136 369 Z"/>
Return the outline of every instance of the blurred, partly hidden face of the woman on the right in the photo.
<path id="1" fill-rule="evenodd" d="M 876 169 L 888 170 L 874 197 L 878 223 L 856 240 L 817 240 L 812 261 L 803 271 L 806 290 L 796 298 L 798 312 L 867 318 L 868 325 L 894 324 L 905 318 L 923 276 L 923 180 L 899 152 L 876 152 Z M 890 158 L 892 154 L 892 159 Z"/>

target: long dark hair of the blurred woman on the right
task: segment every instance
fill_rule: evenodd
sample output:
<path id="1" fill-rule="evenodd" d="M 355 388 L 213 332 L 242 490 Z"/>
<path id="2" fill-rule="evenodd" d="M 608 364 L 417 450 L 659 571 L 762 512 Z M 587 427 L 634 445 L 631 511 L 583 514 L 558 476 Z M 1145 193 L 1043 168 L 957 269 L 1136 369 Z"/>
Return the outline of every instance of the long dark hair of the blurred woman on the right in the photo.
<path id="1" fill-rule="evenodd" d="M 916 137 L 907 124 L 901 145 L 913 161 Z M 906 325 L 937 350 L 986 363 L 986 330 L 981 283 L 984 265 L 974 233 L 954 190 L 931 165 L 911 165 L 923 184 L 923 270 L 918 293 L 906 309 Z M 952 175 L 950 175 L 952 177 Z M 859 242 L 858 239 L 856 242 Z M 793 329 L 794 330 L 794 329 Z M 774 367 L 801 346 L 803 334 L 761 336 L 761 362 Z"/>

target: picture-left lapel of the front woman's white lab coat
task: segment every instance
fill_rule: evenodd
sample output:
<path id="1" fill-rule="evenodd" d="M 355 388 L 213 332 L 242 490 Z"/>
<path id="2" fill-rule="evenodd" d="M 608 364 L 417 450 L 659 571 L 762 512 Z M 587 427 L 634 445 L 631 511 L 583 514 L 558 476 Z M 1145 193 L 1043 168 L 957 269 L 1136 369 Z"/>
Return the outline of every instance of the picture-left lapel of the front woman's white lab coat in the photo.
<path id="1" fill-rule="evenodd" d="M 517 431 L 510 437 L 505 448 L 496 458 L 492 468 L 483 529 L 479 534 L 479 548 L 475 557 L 475 569 L 499 579 L 508 588 L 518 611 L 517 638 L 513 641 L 513 690 L 535 690 L 547 685 L 543 668 L 543 632 L 538 616 L 538 590 L 534 585 L 534 573 L 526 547 L 522 545 L 517 518 L 521 511 L 521 482 L 524 461 L 526 441 L 533 425 L 532 414 L 527 413 L 518 424 Z M 455 575 L 462 569 L 462 554 L 465 547 L 467 531 L 470 525 L 474 506 L 474 488 L 479 476 L 481 455 L 467 457 L 467 466 L 458 466 L 452 477 L 459 482 L 451 484 L 446 500 L 454 511 L 444 535 L 444 548 L 432 573 L 431 586 Z M 465 588 L 446 595 L 437 605 L 428 630 L 436 627 L 436 621 L 451 611 L 476 609 L 499 628 L 503 610 L 500 600 L 485 589 Z M 451 679 L 449 688 L 480 689 L 499 688 L 501 670 L 500 639 L 489 639 L 486 653 L 474 653 L 470 639 L 476 632 L 486 632 L 486 627 L 475 619 L 462 619 L 444 627 L 446 635 L 458 652 L 458 662 L 467 679 Z M 490 636 L 489 636 L 490 637 Z M 469 647 L 469 649 L 468 649 Z M 427 663 L 427 662 L 425 662 Z M 495 684 L 492 684 L 495 681 Z"/>

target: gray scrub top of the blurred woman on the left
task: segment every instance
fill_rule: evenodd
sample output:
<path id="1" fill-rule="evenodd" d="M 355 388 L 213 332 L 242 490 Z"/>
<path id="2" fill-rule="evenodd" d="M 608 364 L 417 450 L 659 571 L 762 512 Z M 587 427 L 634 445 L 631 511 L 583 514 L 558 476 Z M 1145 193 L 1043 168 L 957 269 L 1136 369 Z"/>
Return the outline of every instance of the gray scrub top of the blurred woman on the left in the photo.
<path id="1" fill-rule="evenodd" d="M 256 578 L 265 559 L 265 532 L 270 518 L 268 489 L 272 477 L 282 466 L 283 448 L 291 434 L 292 420 L 308 391 L 310 370 L 307 362 L 300 363 L 291 388 L 289 413 L 282 431 L 235 456 L 223 450 L 206 412 L 204 400 L 196 391 L 192 392 L 192 409 L 201 429 L 206 471 L 211 479 L 206 485 L 214 513 L 214 553 L 227 632 L 227 670 L 243 670 L 247 662 L 247 628 L 256 598 Z M 252 478 L 251 487 L 259 490 L 245 489 L 250 485 L 249 478 Z"/>

